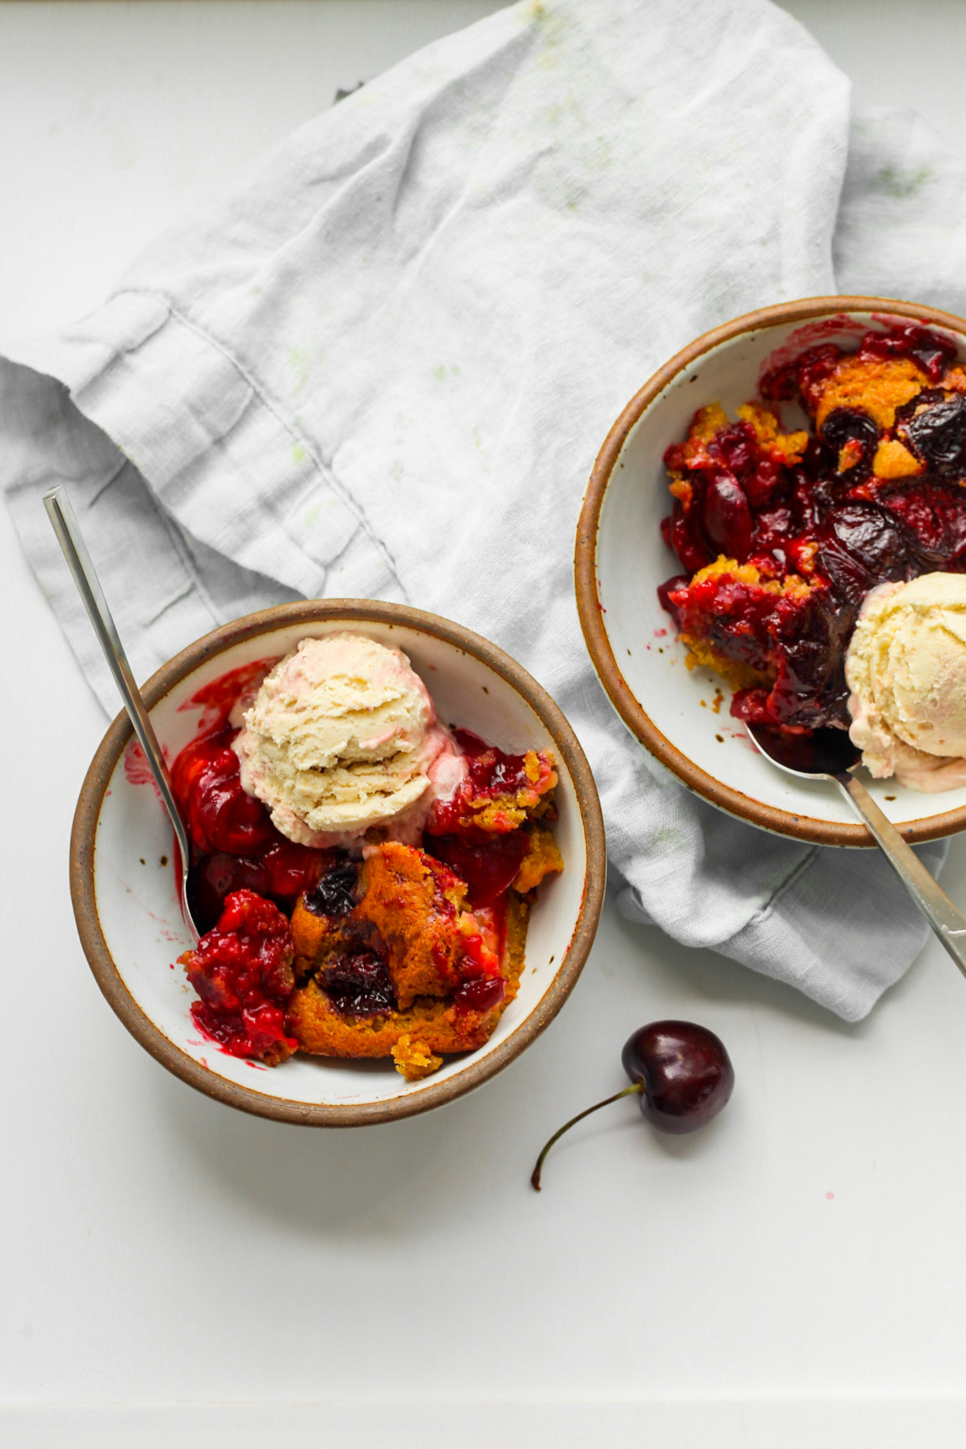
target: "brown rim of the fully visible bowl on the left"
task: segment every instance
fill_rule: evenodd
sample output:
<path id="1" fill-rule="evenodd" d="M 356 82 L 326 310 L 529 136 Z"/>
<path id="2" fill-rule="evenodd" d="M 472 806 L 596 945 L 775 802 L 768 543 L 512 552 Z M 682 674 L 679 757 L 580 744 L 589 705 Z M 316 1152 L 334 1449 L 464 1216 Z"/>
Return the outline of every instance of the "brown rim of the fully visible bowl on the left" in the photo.
<path id="1" fill-rule="evenodd" d="M 537 1003 L 530 1016 L 501 1042 L 495 1051 L 482 1061 L 471 1062 L 455 1077 L 426 1087 L 411 1097 L 401 1097 L 387 1103 L 362 1103 L 345 1107 L 311 1106 L 310 1103 L 291 1101 L 288 1098 L 265 1097 L 249 1087 L 239 1087 L 229 1082 L 207 1068 L 194 1062 L 181 1048 L 168 1040 L 162 1032 L 149 1020 L 127 991 L 120 974 L 112 959 L 110 951 L 100 929 L 97 917 L 97 901 L 94 895 L 94 835 L 100 816 L 104 790 L 110 775 L 120 758 L 122 751 L 132 738 L 130 723 L 125 713 L 119 714 L 109 727 L 97 748 L 97 753 L 84 778 L 74 826 L 71 830 L 71 900 L 74 903 L 74 917 L 81 938 L 84 955 L 94 972 L 94 980 L 107 998 L 114 1013 L 120 1017 L 130 1035 L 151 1052 L 155 1061 L 167 1066 L 169 1072 L 180 1077 L 190 1087 L 226 1103 L 229 1107 L 239 1107 L 242 1111 L 253 1113 L 259 1117 L 271 1117 L 275 1122 L 301 1123 L 314 1127 L 356 1127 L 377 1122 L 391 1122 L 400 1117 L 411 1117 L 432 1107 L 442 1107 L 463 1093 L 471 1091 L 490 1077 L 495 1077 L 508 1062 L 530 1045 L 553 1020 L 571 994 L 584 962 L 587 961 L 604 901 L 604 884 L 607 877 L 607 853 L 604 846 L 604 819 L 597 796 L 597 785 L 591 767 L 587 762 L 576 736 L 566 722 L 563 711 L 550 698 L 542 685 L 527 674 L 527 671 L 504 653 L 495 645 L 479 635 L 463 629 L 462 625 L 452 623 L 437 614 L 424 613 L 421 609 L 410 609 L 404 604 L 388 604 L 379 600 L 362 598 L 329 598 L 310 600 L 297 604 L 278 604 L 274 609 L 264 609 L 255 614 L 246 614 L 235 623 L 224 625 L 213 633 L 206 635 L 196 643 L 188 645 L 181 653 L 162 665 L 156 674 L 148 680 L 142 694 L 151 709 L 187 674 L 191 674 L 206 659 L 223 653 L 232 645 L 265 633 L 268 629 L 284 627 L 285 625 L 329 623 L 335 619 L 348 622 L 395 625 L 417 629 L 421 633 L 433 635 L 446 643 L 465 651 L 495 674 L 501 675 L 539 714 L 547 727 L 555 748 L 566 765 L 576 788 L 584 839 L 587 843 L 587 877 L 584 881 L 584 898 L 579 916 L 566 955 L 553 978 L 553 982 Z M 284 1071 L 284 1066 L 281 1068 Z"/>

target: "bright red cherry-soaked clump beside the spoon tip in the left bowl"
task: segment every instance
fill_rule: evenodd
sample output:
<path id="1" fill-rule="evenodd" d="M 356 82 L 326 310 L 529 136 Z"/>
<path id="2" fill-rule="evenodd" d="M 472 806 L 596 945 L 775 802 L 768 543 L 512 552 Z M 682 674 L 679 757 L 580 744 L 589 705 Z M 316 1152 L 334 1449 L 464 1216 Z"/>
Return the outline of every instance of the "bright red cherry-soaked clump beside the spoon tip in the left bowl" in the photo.
<path id="1" fill-rule="evenodd" d="M 191 1016 L 232 1056 L 282 1061 L 297 1042 L 285 1035 L 285 1006 L 294 990 L 294 945 L 288 920 L 253 891 L 235 891 L 222 919 L 181 959 L 200 1000 Z"/>

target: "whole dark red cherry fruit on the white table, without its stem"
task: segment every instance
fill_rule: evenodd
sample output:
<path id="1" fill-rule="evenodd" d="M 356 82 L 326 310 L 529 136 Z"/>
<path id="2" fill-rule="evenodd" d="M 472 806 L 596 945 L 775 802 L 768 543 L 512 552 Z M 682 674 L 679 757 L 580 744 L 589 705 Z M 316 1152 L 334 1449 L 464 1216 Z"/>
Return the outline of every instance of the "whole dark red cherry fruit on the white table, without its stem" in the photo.
<path id="1" fill-rule="evenodd" d="M 697 1132 L 721 1111 L 734 1068 L 720 1037 L 694 1022 L 650 1022 L 621 1052 L 624 1071 L 642 1082 L 640 1110 L 658 1132 Z"/>

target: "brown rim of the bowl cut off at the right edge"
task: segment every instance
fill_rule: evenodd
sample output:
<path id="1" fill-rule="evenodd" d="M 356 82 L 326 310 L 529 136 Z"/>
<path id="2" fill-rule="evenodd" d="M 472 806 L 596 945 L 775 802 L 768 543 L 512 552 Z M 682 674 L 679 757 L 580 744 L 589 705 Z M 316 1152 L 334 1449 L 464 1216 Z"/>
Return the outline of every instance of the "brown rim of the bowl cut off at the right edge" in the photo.
<path id="1" fill-rule="evenodd" d="M 918 307 L 911 301 L 898 301 L 892 297 L 804 297 L 801 301 L 779 303 L 775 307 L 759 307 L 756 312 L 747 312 L 742 317 L 734 317 L 733 322 L 726 322 L 723 326 L 714 327 L 711 332 L 705 332 L 702 336 L 695 338 L 694 342 L 689 342 L 686 348 L 682 348 L 681 352 L 675 354 L 669 362 L 665 362 L 665 365 L 659 368 L 659 371 L 655 372 L 647 383 L 644 383 L 642 390 L 631 397 L 630 403 L 604 439 L 604 445 L 597 455 L 597 462 L 594 464 L 594 471 L 591 472 L 576 527 L 574 580 L 576 588 L 576 609 L 581 616 L 584 639 L 594 662 L 594 668 L 597 669 L 598 678 L 604 685 L 611 704 L 623 719 L 624 724 L 627 724 L 631 735 L 634 735 L 640 743 L 652 752 L 652 755 L 656 755 L 662 765 L 672 769 L 689 790 L 694 790 L 695 794 L 710 800 L 711 804 L 718 806 L 728 814 L 737 816 L 742 820 L 749 820 L 752 824 L 757 824 L 762 829 L 772 830 L 778 835 L 792 836 L 798 840 L 808 840 L 812 845 L 852 845 L 873 848 L 875 840 L 869 836 L 865 826 L 836 824 L 831 820 L 817 820 L 812 816 L 797 816 L 788 810 L 778 810 L 773 806 L 766 806 L 760 800 L 752 800 L 750 796 L 744 796 L 742 791 L 721 784 L 721 781 L 715 780 L 714 775 L 708 775 L 704 769 L 700 769 L 694 761 L 688 759 L 686 755 L 672 745 L 666 735 L 662 735 L 656 724 L 644 713 L 642 704 L 637 701 L 624 680 L 624 675 L 621 674 L 614 651 L 610 646 L 607 630 L 604 629 L 601 601 L 597 593 L 597 530 L 600 526 L 601 507 L 604 503 L 604 494 L 607 493 L 607 484 L 614 464 L 620 456 L 624 439 L 630 433 L 634 423 L 637 423 L 644 409 L 653 403 L 658 394 L 668 387 L 678 372 L 691 367 L 697 358 L 710 352 L 713 348 L 718 346 L 718 343 L 728 342 L 731 338 L 736 338 L 743 332 L 756 332 L 760 327 L 808 322 L 812 317 L 836 316 L 837 313 L 850 312 L 881 312 L 896 317 L 910 317 L 914 322 L 946 327 L 947 330 L 966 338 L 966 320 L 963 317 L 957 317 L 952 312 L 938 312 L 936 307 Z M 962 807 L 959 810 L 949 810 L 944 814 L 928 816 L 923 820 L 911 820 L 898 829 L 907 840 L 920 843 L 923 840 L 936 840 L 941 836 L 953 835 L 965 826 L 966 807 Z"/>

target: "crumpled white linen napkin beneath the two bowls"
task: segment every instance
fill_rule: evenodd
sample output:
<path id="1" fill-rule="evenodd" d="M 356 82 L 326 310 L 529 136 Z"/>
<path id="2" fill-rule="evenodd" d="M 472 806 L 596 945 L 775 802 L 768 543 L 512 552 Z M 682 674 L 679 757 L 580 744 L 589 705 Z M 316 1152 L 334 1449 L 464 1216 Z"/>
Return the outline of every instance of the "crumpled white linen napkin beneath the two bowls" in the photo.
<path id="1" fill-rule="evenodd" d="M 140 678 L 298 596 L 458 619 L 574 723 L 621 909 L 854 1020 L 921 917 L 878 852 L 743 826 L 627 736 L 574 532 L 613 419 L 691 338 L 840 288 L 963 310 L 965 259 L 962 168 L 910 116 L 850 138 L 844 77 L 765 0 L 526 0 L 304 126 L 83 322 L 7 345 L 0 469 L 109 710 L 54 481 Z"/>

